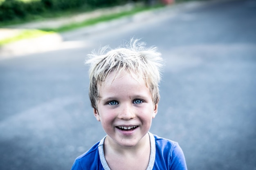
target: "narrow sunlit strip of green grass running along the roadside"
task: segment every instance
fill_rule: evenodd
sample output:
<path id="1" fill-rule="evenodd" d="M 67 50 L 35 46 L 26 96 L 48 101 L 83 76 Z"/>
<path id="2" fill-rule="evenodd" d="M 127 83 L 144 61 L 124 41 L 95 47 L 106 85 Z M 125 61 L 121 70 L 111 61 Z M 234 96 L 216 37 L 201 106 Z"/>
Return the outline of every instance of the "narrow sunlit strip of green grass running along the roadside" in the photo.
<path id="1" fill-rule="evenodd" d="M 56 28 L 56 29 L 52 29 L 52 28 L 41 28 L 41 29 L 38 29 L 38 30 L 37 29 L 33 29 L 33 30 L 26 29 L 26 30 L 21 31 L 18 35 L 0 40 L 0 46 L 2 46 L 4 44 L 11 43 L 11 42 L 16 42 L 16 41 L 19 41 L 19 40 L 24 40 L 24 39 L 29 39 L 29 38 L 38 38 L 40 36 L 47 35 L 47 34 L 50 34 L 50 33 L 61 33 L 61 32 L 64 32 L 64 31 L 71 31 L 71 30 L 78 29 L 78 28 L 81 28 L 81 27 L 97 24 L 99 22 L 106 22 L 106 21 L 118 19 L 118 18 L 121 18 L 121 17 L 133 15 L 135 13 L 139 13 L 139 12 L 142 12 L 142 11 L 157 9 L 159 7 L 163 7 L 163 5 L 155 5 L 155 6 L 152 6 L 152 7 L 138 6 L 138 7 L 135 7 L 133 9 L 131 9 L 130 11 L 123 11 L 123 12 L 120 12 L 120 13 L 113 13 L 113 14 L 109 14 L 109 15 L 103 15 L 103 16 L 100 16 L 98 18 L 85 20 L 84 22 L 79 22 L 79 23 L 70 23 L 70 24 L 63 25 L 63 26 L 61 26 L 59 28 Z"/>

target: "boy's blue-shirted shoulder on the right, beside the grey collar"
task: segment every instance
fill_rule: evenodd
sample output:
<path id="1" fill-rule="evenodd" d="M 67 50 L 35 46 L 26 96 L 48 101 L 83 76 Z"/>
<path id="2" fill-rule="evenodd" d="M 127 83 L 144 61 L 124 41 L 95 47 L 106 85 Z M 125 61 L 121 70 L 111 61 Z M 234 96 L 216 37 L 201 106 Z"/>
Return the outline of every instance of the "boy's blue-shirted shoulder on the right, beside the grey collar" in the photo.
<path id="1" fill-rule="evenodd" d="M 155 163 L 160 166 L 159 169 L 186 170 L 185 157 L 179 144 L 157 135 L 154 135 L 154 137 L 156 146 Z"/>

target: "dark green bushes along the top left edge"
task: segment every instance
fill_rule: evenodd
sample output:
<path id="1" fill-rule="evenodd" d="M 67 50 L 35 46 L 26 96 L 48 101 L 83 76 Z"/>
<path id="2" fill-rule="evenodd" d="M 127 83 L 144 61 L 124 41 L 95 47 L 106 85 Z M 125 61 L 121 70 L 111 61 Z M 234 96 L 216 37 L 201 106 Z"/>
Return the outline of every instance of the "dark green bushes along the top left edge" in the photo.
<path id="1" fill-rule="evenodd" d="M 65 11 L 87 5 L 88 7 L 109 7 L 124 4 L 128 0 L 2 0 L 0 3 L 0 21 L 23 19 L 28 15 L 43 12 Z"/>

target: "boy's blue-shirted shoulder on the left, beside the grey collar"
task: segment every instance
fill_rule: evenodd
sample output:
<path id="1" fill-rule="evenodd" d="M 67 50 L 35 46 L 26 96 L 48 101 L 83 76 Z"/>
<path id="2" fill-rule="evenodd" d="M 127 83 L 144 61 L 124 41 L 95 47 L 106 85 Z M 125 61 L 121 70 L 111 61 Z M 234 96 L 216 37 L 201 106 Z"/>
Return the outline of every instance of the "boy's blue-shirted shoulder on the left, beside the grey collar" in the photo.
<path id="1" fill-rule="evenodd" d="M 99 142 L 92 146 L 92 148 L 90 148 L 87 152 L 77 157 L 71 170 L 89 170 L 89 167 L 90 170 L 98 169 L 99 165 L 101 164 L 99 159 L 98 146 Z"/>

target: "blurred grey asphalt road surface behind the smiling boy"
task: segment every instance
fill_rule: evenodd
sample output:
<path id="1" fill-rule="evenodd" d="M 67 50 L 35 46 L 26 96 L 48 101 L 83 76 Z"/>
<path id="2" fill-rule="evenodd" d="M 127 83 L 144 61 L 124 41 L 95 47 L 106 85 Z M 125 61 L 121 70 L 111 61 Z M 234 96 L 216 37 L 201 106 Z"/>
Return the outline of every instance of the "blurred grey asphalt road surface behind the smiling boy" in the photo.
<path id="1" fill-rule="evenodd" d="M 67 49 L 1 60 L 1 170 L 69 170 L 105 135 L 83 62 L 131 37 L 158 46 L 166 61 L 150 131 L 178 141 L 189 170 L 256 170 L 255 0 L 170 8 L 66 36 Z"/>

